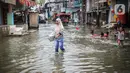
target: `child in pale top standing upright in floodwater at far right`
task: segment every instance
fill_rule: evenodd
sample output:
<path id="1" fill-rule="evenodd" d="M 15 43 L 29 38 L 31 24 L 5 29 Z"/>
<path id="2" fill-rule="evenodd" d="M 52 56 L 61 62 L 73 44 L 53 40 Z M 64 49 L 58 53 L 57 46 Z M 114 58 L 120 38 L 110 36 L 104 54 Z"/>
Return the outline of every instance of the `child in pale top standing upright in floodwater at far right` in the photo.
<path id="1" fill-rule="evenodd" d="M 119 46 L 124 45 L 124 39 L 125 39 L 125 31 L 122 27 L 119 28 L 118 34 L 117 34 L 117 43 Z"/>

